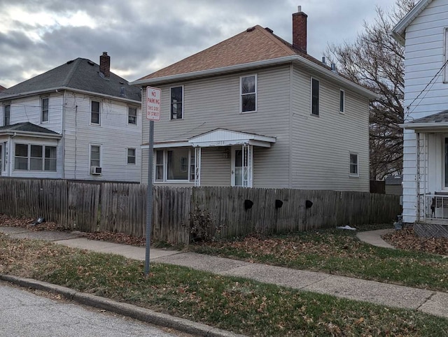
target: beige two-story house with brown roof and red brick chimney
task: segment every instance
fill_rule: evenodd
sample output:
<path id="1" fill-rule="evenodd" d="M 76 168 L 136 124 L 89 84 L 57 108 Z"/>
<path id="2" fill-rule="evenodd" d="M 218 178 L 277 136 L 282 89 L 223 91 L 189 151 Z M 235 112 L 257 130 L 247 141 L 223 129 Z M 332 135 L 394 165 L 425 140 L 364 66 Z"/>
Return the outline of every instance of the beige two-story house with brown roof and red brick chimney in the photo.
<path id="1" fill-rule="evenodd" d="M 146 87 L 161 89 L 156 185 L 369 191 L 374 94 L 307 54 L 300 7 L 292 44 L 257 25 L 131 85 L 144 115 Z"/>

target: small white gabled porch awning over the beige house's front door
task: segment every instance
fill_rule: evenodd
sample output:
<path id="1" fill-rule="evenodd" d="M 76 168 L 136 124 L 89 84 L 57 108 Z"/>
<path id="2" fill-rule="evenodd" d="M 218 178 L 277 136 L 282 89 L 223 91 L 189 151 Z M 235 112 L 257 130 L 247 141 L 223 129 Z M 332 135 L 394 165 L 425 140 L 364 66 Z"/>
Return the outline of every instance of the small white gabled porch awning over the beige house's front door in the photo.
<path id="1" fill-rule="evenodd" d="M 232 131 L 228 129 L 215 129 L 205 134 L 190 138 L 188 143 L 195 148 L 231 145 L 254 145 L 261 146 L 262 148 L 270 148 L 275 141 L 275 137 L 248 134 L 246 132 Z"/>

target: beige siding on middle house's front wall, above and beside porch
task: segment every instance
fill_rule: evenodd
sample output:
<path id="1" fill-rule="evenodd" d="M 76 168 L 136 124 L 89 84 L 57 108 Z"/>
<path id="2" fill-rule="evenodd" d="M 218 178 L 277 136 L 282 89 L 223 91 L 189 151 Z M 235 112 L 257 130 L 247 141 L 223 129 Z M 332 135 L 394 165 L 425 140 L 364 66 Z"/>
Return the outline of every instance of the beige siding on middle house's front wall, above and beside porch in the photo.
<path id="1" fill-rule="evenodd" d="M 241 114 L 239 78 L 252 74 L 258 77 L 258 111 Z M 184 88 L 183 120 L 169 120 L 169 88 L 179 85 L 183 85 Z M 276 143 L 271 149 L 254 150 L 253 187 L 288 187 L 290 66 L 162 85 L 160 89 L 162 89 L 162 111 L 160 122 L 154 124 L 155 142 L 186 141 L 217 128 L 274 136 Z M 145 100 L 146 90 L 144 90 Z M 145 114 L 145 105 L 143 109 Z M 149 122 L 144 120 L 144 143 L 147 143 L 148 137 Z M 204 158 L 202 164 L 207 165 L 204 163 Z M 148 165 L 144 160 L 142 181 L 146 181 L 147 175 Z M 207 177 L 202 182 L 209 183 L 213 179 Z M 218 181 L 220 184 L 223 183 L 221 180 Z"/>

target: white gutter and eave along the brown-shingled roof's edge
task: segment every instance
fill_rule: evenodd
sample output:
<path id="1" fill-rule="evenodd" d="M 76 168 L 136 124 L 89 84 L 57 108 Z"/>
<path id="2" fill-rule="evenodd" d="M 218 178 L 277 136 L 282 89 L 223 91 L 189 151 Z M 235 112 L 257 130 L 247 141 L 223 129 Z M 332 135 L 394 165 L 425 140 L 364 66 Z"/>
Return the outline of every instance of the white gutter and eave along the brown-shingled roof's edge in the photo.
<path id="1" fill-rule="evenodd" d="M 314 62 L 309 61 L 309 59 L 306 59 L 300 55 L 290 55 L 286 57 L 279 57 L 276 59 L 265 59 L 258 62 L 251 62 L 246 64 L 237 64 L 235 66 L 225 66 L 221 68 L 214 68 L 214 69 L 207 69 L 203 71 L 194 71 L 192 73 L 181 73 L 176 74 L 172 76 L 165 76 L 160 78 L 147 78 L 143 80 L 136 80 L 134 82 L 130 82 L 129 85 L 160 85 L 164 83 L 171 83 L 176 82 L 179 80 L 191 80 L 195 78 L 202 78 L 207 76 L 213 76 L 216 74 L 221 73 L 232 73 L 237 71 L 243 71 L 248 70 L 251 68 L 261 68 L 264 66 L 275 66 L 280 64 L 286 64 L 290 62 L 298 62 L 300 64 L 304 64 L 305 66 L 308 66 L 309 68 L 313 69 L 314 71 L 321 73 L 324 76 L 327 76 L 331 78 L 332 80 L 335 80 L 339 83 L 342 83 L 344 86 L 349 87 L 353 89 L 353 91 L 358 92 L 359 94 L 362 94 L 363 96 L 367 96 L 370 99 L 378 98 L 379 95 L 375 94 L 374 92 L 371 92 L 368 89 L 365 89 L 365 87 L 362 87 L 360 85 L 357 85 L 356 83 L 351 82 L 351 80 L 347 80 L 346 78 L 343 78 L 342 76 L 339 76 L 337 73 L 330 71 L 328 69 L 323 68 L 319 64 L 316 64 Z"/>

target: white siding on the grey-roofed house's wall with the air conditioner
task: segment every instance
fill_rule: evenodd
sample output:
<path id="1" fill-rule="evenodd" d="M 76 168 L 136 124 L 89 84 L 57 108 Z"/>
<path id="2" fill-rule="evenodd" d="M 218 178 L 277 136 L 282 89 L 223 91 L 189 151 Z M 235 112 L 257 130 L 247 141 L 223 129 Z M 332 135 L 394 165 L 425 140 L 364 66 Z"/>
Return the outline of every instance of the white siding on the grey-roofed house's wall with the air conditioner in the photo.
<path id="1" fill-rule="evenodd" d="M 90 124 L 90 101 L 100 101 L 100 125 Z M 64 173 L 66 179 L 139 182 L 141 178 L 141 110 L 137 125 L 127 124 L 127 103 L 66 92 Z M 90 174 L 90 145 L 101 145 L 102 175 Z M 136 149 L 136 164 L 127 164 L 127 148 Z"/>

